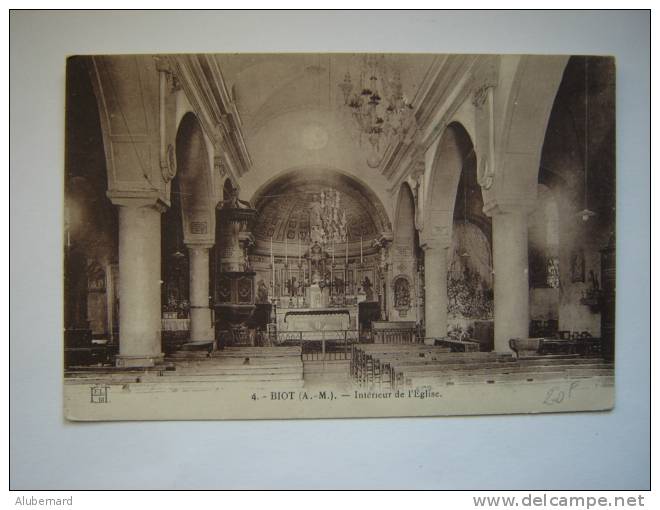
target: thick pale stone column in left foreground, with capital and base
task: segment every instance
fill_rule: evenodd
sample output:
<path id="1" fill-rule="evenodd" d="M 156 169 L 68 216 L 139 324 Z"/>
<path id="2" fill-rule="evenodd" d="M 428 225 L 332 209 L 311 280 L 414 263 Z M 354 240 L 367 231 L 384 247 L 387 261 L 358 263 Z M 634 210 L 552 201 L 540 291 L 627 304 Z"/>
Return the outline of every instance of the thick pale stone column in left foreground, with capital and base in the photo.
<path id="1" fill-rule="evenodd" d="M 109 192 L 119 207 L 118 367 L 150 367 L 161 352 L 161 213 L 156 195 Z"/>

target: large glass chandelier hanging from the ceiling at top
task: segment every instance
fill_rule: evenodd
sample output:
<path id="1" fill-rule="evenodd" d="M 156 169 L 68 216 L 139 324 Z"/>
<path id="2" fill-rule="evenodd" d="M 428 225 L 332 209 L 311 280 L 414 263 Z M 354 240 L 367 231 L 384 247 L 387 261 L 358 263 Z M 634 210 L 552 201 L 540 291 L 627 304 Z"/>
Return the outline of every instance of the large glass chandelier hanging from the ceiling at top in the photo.
<path id="1" fill-rule="evenodd" d="M 367 163 L 375 168 L 381 147 L 403 136 L 414 124 L 415 115 L 403 93 L 401 73 L 388 69 L 384 55 L 364 55 L 361 64 L 359 88 L 354 92 L 350 72 L 346 72 L 339 88 L 358 127 L 360 143 L 364 135 L 371 145 Z"/>

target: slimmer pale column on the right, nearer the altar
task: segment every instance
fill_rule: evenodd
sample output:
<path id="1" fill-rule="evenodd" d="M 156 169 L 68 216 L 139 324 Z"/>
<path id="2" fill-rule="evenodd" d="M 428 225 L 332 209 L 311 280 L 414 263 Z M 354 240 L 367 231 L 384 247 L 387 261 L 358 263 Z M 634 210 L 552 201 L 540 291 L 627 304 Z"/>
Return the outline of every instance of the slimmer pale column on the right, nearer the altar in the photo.
<path id="1" fill-rule="evenodd" d="M 423 244 L 424 316 L 426 337 L 447 336 L 447 249 L 446 243 Z M 431 340 L 428 343 L 432 343 Z"/>

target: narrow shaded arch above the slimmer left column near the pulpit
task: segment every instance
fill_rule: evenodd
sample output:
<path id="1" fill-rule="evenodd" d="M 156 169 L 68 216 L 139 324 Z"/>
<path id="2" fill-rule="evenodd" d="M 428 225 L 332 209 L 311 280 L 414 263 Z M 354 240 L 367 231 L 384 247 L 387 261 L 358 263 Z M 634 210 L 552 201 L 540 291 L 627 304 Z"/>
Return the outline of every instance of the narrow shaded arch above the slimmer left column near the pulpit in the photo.
<path id="1" fill-rule="evenodd" d="M 176 160 L 186 242 L 209 242 L 215 232 L 213 180 L 207 142 L 199 120 L 186 113 L 176 134 Z"/>

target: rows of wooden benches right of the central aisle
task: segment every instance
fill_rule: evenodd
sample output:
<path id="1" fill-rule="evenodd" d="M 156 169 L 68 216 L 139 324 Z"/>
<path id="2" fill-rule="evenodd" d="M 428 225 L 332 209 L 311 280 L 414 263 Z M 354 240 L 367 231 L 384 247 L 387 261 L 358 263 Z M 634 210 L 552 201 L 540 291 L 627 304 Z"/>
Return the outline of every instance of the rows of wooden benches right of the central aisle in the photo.
<path id="1" fill-rule="evenodd" d="M 597 357 L 451 352 L 447 346 L 354 345 L 352 379 L 360 386 L 399 389 L 419 385 L 539 382 L 583 377 L 610 382 L 613 365 Z"/>

